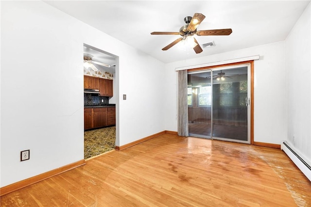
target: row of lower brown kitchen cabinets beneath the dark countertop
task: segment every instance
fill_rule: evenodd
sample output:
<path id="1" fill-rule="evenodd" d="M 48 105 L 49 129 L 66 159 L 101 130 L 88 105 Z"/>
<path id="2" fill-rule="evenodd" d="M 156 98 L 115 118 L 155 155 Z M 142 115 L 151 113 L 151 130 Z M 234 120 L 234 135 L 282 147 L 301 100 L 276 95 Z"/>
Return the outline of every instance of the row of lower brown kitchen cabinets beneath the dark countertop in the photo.
<path id="1" fill-rule="evenodd" d="M 116 124 L 115 107 L 84 108 L 84 129 Z"/>

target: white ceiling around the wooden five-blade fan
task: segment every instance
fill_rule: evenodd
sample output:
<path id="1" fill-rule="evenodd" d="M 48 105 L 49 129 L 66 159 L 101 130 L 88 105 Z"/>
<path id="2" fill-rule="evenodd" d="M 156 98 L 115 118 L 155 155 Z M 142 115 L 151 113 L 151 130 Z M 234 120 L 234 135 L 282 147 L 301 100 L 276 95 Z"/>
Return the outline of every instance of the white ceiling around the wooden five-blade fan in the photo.
<path id="1" fill-rule="evenodd" d="M 215 53 L 249 48 L 284 40 L 310 0 L 68 0 L 45 1 L 128 45 L 168 63 Z M 150 35 L 151 32 L 179 32 L 184 17 L 202 13 L 206 18 L 197 30 L 231 28 L 228 36 L 196 36 L 202 44 L 214 41 L 215 47 L 196 54 L 177 45 L 161 49 L 179 35 Z"/>

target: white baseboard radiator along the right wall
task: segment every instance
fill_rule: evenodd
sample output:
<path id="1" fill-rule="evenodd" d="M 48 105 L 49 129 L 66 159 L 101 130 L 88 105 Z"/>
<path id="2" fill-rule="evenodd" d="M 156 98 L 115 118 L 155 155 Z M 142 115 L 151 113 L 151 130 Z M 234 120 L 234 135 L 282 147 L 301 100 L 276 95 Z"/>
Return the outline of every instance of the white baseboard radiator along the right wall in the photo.
<path id="1" fill-rule="evenodd" d="M 306 175 L 306 177 L 311 181 L 311 164 L 303 155 L 299 155 L 295 152 L 293 146 L 291 146 L 287 141 L 283 141 L 281 144 L 281 149 L 288 155 L 294 164 L 299 168 L 299 170 Z"/>

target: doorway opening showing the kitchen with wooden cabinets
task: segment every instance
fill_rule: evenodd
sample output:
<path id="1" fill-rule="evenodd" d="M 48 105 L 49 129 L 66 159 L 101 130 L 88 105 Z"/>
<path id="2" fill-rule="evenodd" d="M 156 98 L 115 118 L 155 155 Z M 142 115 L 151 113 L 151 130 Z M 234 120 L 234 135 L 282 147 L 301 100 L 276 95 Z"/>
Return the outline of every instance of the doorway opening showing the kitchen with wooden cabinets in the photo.
<path id="1" fill-rule="evenodd" d="M 84 44 L 84 158 L 115 149 L 119 58 Z M 86 64 L 87 63 L 87 64 Z"/>

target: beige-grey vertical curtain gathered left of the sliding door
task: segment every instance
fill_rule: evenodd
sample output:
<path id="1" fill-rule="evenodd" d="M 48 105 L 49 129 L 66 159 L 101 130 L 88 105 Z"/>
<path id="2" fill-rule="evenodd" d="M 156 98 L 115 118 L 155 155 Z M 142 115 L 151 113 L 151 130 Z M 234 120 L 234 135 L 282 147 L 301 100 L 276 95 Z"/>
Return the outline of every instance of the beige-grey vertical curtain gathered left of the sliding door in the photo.
<path id="1" fill-rule="evenodd" d="M 177 71 L 177 114 L 178 114 L 178 136 L 188 137 L 188 101 L 187 101 L 187 70 Z"/>

